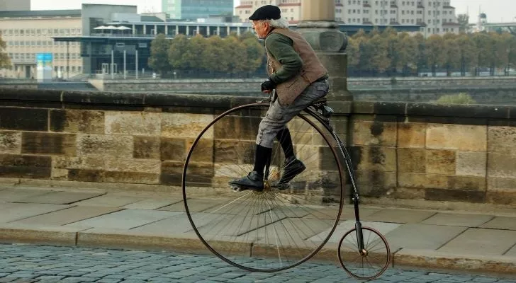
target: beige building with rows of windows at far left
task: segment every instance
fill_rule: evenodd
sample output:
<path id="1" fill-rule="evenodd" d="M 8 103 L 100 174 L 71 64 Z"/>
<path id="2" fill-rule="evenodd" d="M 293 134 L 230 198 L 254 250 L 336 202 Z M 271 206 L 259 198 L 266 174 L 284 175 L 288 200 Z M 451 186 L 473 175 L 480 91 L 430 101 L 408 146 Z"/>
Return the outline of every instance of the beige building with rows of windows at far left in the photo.
<path id="1" fill-rule="evenodd" d="M 3 11 L 0 33 L 11 58 L 11 68 L 0 69 L 1 77 L 34 79 L 38 53 L 52 53 L 54 77 L 82 72 L 79 43 L 52 40 L 52 36 L 82 34 L 81 10 Z"/>

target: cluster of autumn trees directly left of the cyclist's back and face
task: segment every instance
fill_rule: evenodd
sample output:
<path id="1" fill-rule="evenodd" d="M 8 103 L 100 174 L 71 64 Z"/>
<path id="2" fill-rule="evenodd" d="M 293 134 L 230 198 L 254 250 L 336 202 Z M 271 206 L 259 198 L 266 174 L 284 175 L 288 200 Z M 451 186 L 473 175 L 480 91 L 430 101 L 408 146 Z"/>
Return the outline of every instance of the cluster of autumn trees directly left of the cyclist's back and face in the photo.
<path id="1" fill-rule="evenodd" d="M 262 66 L 264 47 L 252 33 L 186 37 L 169 40 L 159 34 L 151 42 L 149 67 L 162 74 L 172 70 L 252 74 Z"/>

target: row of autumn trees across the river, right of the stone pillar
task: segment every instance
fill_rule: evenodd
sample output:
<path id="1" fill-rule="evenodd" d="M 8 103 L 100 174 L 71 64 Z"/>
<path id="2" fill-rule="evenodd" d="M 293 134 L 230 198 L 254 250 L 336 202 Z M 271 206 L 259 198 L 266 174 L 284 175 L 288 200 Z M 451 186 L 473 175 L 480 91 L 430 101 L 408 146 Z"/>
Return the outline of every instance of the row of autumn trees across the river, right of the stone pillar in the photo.
<path id="1" fill-rule="evenodd" d="M 481 69 L 509 74 L 516 67 L 516 37 L 510 33 L 447 33 L 414 36 L 387 28 L 379 33 L 360 30 L 349 38 L 349 71 L 359 76 L 387 73 L 419 75 L 422 71 L 460 71 L 478 75 Z"/>

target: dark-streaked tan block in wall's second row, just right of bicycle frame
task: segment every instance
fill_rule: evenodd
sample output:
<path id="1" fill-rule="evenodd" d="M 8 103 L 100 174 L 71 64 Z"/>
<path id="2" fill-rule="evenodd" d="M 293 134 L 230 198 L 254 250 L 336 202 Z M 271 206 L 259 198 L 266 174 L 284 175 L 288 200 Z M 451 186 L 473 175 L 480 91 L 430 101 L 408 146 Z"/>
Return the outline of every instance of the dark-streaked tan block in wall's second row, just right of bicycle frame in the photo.
<path id="1" fill-rule="evenodd" d="M 396 171 L 396 148 L 378 146 L 354 146 L 352 161 L 358 170 Z"/>

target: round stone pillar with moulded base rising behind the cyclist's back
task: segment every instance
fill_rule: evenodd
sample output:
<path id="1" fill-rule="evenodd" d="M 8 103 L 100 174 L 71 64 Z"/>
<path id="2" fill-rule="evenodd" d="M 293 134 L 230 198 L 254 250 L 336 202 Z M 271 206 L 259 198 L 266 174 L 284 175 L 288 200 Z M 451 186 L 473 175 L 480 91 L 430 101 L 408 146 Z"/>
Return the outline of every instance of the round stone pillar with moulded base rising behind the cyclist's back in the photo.
<path id="1" fill-rule="evenodd" d="M 347 37 L 335 22 L 335 0 L 301 0 L 297 31 L 310 42 L 330 74 L 328 99 L 339 102 L 336 112 L 350 112 L 353 98 L 347 91 Z"/>

